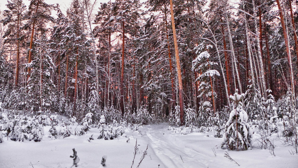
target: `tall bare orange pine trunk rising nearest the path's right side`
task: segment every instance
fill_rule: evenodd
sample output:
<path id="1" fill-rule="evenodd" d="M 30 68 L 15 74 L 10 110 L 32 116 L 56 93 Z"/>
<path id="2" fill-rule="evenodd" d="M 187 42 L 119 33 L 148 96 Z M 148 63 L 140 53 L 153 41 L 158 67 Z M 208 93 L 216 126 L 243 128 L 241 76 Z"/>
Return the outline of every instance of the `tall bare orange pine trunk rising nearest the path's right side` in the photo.
<path id="1" fill-rule="evenodd" d="M 174 38 L 174 46 L 175 46 L 175 56 L 176 56 L 176 65 L 177 65 L 177 73 L 178 73 L 178 82 L 179 82 L 180 121 L 181 121 L 181 126 L 182 126 L 182 125 L 184 125 L 183 86 L 182 86 L 181 67 L 180 67 L 178 42 L 177 42 L 177 36 L 176 36 L 174 11 L 173 11 L 173 1 L 172 0 L 170 0 L 170 10 L 171 10 L 173 38 Z"/>

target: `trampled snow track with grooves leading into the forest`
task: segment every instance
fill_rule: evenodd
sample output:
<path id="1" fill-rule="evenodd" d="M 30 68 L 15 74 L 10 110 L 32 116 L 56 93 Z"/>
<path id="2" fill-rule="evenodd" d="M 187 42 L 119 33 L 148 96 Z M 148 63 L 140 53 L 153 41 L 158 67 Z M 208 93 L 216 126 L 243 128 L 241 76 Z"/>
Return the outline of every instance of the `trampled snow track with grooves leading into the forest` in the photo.
<path id="1" fill-rule="evenodd" d="M 208 155 L 186 147 L 184 144 L 175 143 L 175 139 L 167 130 L 167 124 L 150 125 L 143 127 L 141 133 L 148 137 L 149 146 L 156 156 L 168 168 L 181 167 L 208 167 L 212 161 Z"/>

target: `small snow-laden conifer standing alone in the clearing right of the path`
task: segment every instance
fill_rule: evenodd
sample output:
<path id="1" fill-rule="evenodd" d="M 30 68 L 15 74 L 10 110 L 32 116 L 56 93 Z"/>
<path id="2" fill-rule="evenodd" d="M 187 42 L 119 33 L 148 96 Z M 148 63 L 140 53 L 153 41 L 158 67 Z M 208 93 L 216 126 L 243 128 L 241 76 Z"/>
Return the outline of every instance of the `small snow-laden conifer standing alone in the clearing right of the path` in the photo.
<path id="1" fill-rule="evenodd" d="M 221 143 L 222 148 L 233 149 L 252 149 L 251 140 L 253 131 L 247 123 L 248 116 L 243 110 L 242 100 L 244 94 L 238 94 L 238 89 L 235 90 L 234 96 L 230 95 L 233 110 L 230 113 L 229 120 L 226 122 L 225 135 Z"/>

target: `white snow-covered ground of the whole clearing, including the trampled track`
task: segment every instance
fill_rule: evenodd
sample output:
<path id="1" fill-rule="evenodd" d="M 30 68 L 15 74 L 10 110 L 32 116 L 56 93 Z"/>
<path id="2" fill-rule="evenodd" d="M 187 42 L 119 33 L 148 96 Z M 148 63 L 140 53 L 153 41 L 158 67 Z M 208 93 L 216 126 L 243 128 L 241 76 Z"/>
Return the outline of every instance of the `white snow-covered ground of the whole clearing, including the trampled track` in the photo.
<path id="1" fill-rule="evenodd" d="M 298 167 L 298 155 L 291 155 L 288 150 L 293 146 L 284 146 L 281 141 L 274 141 L 276 156 L 268 149 L 253 149 L 247 151 L 228 151 L 220 148 L 221 138 L 215 138 L 213 132 L 190 133 L 181 135 L 168 131 L 168 124 L 148 125 L 138 131 L 125 130 L 129 138 L 119 137 L 114 140 L 97 139 L 100 130 L 91 128 L 82 136 L 71 135 L 67 138 L 51 139 L 45 135 L 41 142 L 15 142 L 7 140 L 0 143 L 0 167 L 72 167 L 72 148 L 75 148 L 80 158 L 78 167 L 102 167 L 103 155 L 107 155 L 108 168 L 131 167 L 134 158 L 134 146 L 137 152 L 133 167 L 137 167 L 142 152 L 148 145 L 148 155 L 140 164 L 142 168 L 197 168 L 197 167 L 239 167 L 235 162 L 224 157 L 229 153 L 240 167 Z M 88 141 L 93 133 L 94 140 Z M 215 152 L 213 152 L 213 150 Z"/>

